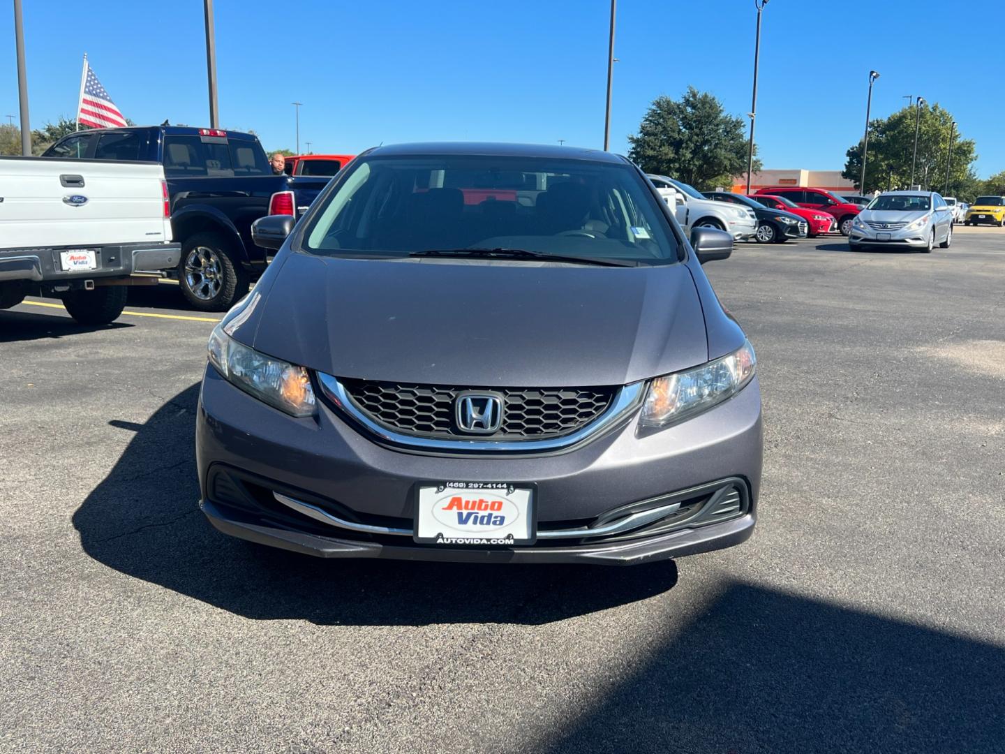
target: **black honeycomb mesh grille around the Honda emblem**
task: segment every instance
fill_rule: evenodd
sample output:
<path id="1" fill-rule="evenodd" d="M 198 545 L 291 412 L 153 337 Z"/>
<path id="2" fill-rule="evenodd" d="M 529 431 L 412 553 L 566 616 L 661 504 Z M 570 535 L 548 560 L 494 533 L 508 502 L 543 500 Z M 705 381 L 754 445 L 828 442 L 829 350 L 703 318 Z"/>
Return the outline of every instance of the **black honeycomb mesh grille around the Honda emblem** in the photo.
<path id="1" fill-rule="evenodd" d="M 471 435 L 454 421 L 454 401 L 466 386 L 343 380 L 346 392 L 369 418 L 397 432 L 425 437 L 545 439 L 569 434 L 611 404 L 612 387 L 490 388 L 502 396 L 502 423 L 493 434 Z"/>

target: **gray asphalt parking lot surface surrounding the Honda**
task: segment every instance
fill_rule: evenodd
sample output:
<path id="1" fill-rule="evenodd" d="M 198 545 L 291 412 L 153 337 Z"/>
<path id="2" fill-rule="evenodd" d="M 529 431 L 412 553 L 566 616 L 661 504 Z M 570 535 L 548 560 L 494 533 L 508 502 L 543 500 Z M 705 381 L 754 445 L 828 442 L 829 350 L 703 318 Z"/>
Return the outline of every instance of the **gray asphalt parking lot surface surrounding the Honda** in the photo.
<path id="1" fill-rule="evenodd" d="M 758 351 L 754 538 L 633 569 L 217 534 L 215 316 L 0 312 L 0 750 L 1005 751 L 1005 229 L 707 267 Z"/>

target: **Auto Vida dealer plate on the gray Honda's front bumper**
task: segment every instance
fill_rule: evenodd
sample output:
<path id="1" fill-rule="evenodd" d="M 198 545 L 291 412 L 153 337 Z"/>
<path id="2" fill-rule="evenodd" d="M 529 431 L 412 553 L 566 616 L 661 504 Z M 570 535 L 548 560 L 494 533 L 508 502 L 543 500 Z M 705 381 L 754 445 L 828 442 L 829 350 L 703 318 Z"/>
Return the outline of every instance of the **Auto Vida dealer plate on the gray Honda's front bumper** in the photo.
<path id="1" fill-rule="evenodd" d="M 419 485 L 413 539 L 446 546 L 533 544 L 535 492 L 527 485 L 484 482 Z"/>

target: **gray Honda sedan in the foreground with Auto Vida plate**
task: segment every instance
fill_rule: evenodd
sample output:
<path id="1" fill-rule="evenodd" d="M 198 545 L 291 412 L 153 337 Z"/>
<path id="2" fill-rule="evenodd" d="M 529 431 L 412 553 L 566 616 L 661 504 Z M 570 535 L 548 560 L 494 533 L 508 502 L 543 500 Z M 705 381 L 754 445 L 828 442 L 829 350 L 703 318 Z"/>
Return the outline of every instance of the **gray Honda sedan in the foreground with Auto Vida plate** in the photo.
<path id="1" fill-rule="evenodd" d="M 595 150 L 379 147 L 213 331 L 200 506 L 322 557 L 632 564 L 750 537 L 754 349 L 645 175 Z"/>

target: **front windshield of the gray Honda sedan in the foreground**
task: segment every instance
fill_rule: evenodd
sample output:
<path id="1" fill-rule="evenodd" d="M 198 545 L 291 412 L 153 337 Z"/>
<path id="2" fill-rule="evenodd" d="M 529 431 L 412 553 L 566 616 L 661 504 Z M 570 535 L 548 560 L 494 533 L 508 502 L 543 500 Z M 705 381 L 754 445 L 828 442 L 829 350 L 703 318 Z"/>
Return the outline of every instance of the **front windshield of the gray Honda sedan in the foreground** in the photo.
<path id="1" fill-rule="evenodd" d="M 677 244 L 630 165 L 541 157 L 361 158 L 324 196 L 307 250 L 513 250 L 665 264 Z"/>

